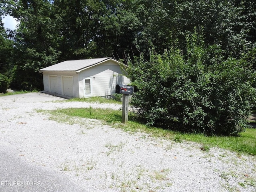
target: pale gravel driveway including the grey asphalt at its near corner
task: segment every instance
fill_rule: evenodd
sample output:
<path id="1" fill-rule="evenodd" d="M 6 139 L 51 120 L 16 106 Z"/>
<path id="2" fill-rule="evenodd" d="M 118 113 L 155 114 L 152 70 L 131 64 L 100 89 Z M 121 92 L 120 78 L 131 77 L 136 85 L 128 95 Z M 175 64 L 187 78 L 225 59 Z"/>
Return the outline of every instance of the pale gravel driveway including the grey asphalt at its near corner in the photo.
<path id="1" fill-rule="evenodd" d="M 200 144 L 129 134 L 99 120 L 49 120 L 36 110 L 116 104 L 0 97 L 0 191 L 255 192 L 256 158 Z M 81 123 L 82 122 L 82 123 Z"/>

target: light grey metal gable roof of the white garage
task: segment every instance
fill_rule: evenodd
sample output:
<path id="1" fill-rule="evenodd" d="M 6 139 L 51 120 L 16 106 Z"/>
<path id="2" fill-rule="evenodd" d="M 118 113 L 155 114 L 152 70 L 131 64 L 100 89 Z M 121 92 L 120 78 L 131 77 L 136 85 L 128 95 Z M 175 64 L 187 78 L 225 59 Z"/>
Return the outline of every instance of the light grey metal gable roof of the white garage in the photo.
<path id="1" fill-rule="evenodd" d="M 82 59 L 82 60 L 68 60 L 64 62 L 60 62 L 57 64 L 54 64 L 52 66 L 48 66 L 46 68 L 42 68 L 39 70 L 39 72 L 42 71 L 76 71 L 81 72 L 82 70 L 85 70 L 86 68 L 90 68 L 92 66 L 98 65 L 102 62 L 106 62 L 108 60 L 112 60 L 118 64 L 124 65 L 117 60 L 111 58 L 111 57 L 104 57 L 104 58 L 95 58 L 95 59 Z"/>

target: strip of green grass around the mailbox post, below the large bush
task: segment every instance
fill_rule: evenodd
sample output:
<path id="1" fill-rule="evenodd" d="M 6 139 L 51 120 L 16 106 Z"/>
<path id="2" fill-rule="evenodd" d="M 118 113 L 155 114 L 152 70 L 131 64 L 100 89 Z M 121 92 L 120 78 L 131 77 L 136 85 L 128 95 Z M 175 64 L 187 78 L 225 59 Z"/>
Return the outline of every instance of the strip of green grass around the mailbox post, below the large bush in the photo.
<path id="1" fill-rule="evenodd" d="M 208 150 L 211 147 L 219 147 L 238 153 L 256 155 L 256 129 L 254 128 L 248 128 L 246 132 L 241 133 L 240 136 L 205 136 L 204 134 L 181 133 L 157 127 L 148 127 L 141 122 L 133 120 L 133 114 L 131 113 L 129 114 L 128 123 L 121 124 L 122 111 L 120 110 L 92 109 L 90 107 L 59 109 L 51 113 L 54 114 L 54 116 L 65 114 L 68 116 L 99 119 L 128 132 L 145 132 L 152 137 L 162 137 L 176 142 L 182 140 L 197 142 Z"/>

